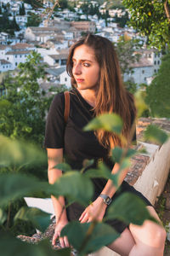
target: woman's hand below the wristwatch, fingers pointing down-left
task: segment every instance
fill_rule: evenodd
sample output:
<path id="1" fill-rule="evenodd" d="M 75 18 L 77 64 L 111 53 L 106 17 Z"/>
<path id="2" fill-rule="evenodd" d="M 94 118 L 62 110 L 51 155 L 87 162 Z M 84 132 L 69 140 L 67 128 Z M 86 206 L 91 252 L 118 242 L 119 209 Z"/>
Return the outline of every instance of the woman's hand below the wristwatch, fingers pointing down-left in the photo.
<path id="1" fill-rule="evenodd" d="M 91 205 L 89 205 L 84 212 L 82 212 L 79 221 L 81 223 L 91 222 L 93 219 L 102 221 L 105 215 L 106 205 L 101 197 L 98 197 Z"/>

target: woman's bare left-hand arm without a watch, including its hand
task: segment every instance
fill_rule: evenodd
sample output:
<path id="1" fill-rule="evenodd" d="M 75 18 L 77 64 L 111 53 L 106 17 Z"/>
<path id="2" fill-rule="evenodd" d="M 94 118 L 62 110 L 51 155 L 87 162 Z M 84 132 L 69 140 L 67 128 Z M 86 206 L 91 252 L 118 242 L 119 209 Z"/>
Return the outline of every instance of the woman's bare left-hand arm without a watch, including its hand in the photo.
<path id="1" fill-rule="evenodd" d="M 48 151 L 48 182 L 50 184 L 55 183 L 55 181 L 61 177 L 62 171 L 55 168 L 59 163 L 63 160 L 63 148 L 47 148 Z M 56 227 L 53 237 L 53 245 L 55 244 L 55 240 L 60 236 L 60 231 L 64 228 L 65 224 L 68 223 L 68 219 L 65 211 L 65 198 L 63 196 L 59 196 L 57 199 L 54 195 L 51 195 L 54 212 L 56 218 Z M 69 242 L 66 237 L 59 238 L 61 247 L 68 247 Z"/>

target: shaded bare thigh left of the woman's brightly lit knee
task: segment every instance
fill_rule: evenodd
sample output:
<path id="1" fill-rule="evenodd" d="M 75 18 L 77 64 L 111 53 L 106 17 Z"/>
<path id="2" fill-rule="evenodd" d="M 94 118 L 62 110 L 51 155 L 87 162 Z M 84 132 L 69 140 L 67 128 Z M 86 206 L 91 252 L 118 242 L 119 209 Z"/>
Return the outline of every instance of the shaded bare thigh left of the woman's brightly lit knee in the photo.
<path id="1" fill-rule="evenodd" d="M 135 241 L 133 240 L 133 236 L 131 232 L 126 228 L 122 232 L 121 236 L 107 247 L 109 247 L 114 252 L 121 254 L 122 256 L 127 256 L 133 248 L 134 244 Z"/>

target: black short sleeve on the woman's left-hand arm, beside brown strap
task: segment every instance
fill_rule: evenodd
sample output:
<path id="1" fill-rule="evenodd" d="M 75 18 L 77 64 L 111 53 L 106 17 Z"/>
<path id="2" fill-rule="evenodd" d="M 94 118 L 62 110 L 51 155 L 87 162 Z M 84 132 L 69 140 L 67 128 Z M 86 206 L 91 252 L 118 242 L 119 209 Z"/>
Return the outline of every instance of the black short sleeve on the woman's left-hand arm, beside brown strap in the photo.
<path id="1" fill-rule="evenodd" d="M 64 148 L 65 136 L 65 96 L 61 92 L 54 96 L 48 111 L 45 131 L 45 148 Z"/>

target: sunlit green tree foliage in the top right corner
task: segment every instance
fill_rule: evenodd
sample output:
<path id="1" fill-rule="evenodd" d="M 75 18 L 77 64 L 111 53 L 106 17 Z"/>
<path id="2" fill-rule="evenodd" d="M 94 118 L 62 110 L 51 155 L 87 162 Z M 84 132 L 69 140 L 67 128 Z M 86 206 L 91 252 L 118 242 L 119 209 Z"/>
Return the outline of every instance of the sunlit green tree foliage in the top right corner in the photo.
<path id="1" fill-rule="evenodd" d="M 130 26 L 148 38 L 148 44 L 162 49 L 170 42 L 170 1 L 123 0 L 130 11 Z"/>

